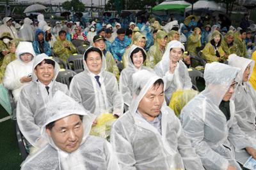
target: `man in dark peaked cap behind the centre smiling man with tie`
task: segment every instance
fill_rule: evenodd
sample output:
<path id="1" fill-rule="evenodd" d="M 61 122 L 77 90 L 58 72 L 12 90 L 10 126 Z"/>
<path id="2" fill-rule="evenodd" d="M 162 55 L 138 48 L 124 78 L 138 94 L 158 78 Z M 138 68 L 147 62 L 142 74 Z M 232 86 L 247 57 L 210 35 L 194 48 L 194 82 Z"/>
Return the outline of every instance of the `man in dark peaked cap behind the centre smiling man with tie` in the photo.
<path id="1" fill-rule="evenodd" d="M 106 39 L 103 36 L 97 35 L 93 38 L 93 46 L 100 48 L 106 58 L 106 71 L 113 73 L 116 76 L 116 80 L 119 79 L 119 69 L 116 66 L 116 62 L 110 52 L 105 48 Z"/>

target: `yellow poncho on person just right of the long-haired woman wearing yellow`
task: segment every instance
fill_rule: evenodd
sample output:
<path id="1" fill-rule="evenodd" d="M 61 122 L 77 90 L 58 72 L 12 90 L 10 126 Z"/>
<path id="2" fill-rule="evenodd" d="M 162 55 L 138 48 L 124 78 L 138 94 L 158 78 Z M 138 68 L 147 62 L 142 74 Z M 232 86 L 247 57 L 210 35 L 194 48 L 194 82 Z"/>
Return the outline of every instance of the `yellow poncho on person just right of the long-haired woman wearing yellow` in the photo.
<path id="1" fill-rule="evenodd" d="M 234 44 L 234 41 L 228 46 L 227 38 L 229 36 L 234 37 L 234 32 L 228 31 L 227 34 L 225 34 L 223 41 L 221 41 L 221 47 L 222 47 L 223 51 L 225 52 L 226 56 L 228 56 L 232 53 L 236 53 L 236 51 L 237 51 L 237 45 Z"/>

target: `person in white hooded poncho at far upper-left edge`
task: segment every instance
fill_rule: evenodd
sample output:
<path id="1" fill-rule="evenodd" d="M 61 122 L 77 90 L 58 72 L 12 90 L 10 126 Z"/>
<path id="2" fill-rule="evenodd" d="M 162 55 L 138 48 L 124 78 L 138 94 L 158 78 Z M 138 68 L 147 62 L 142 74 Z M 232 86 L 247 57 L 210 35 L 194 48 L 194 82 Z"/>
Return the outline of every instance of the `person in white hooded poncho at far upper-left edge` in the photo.
<path id="1" fill-rule="evenodd" d="M 3 18 L 3 23 L 4 23 L 3 25 L 0 25 L 0 36 L 4 32 L 9 32 L 12 39 L 19 38 L 19 36 L 17 34 L 17 30 L 12 25 L 12 18 L 11 17 L 4 17 Z"/>

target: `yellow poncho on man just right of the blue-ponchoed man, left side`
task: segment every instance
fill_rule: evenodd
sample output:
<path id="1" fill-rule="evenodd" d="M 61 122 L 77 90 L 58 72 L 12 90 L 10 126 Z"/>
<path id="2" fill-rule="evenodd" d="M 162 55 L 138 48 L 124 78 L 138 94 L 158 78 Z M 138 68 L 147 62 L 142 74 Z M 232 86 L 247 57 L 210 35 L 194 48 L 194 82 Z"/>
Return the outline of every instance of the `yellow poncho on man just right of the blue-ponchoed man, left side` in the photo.
<path id="1" fill-rule="evenodd" d="M 68 43 L 69 48 L 65 48 L 63 43 Z M 60 57 L 62 60 L 67 62 L 67 59 L 72 53 L 76 53 L 76 47 L 71 43 L 71 41 L 61 41 L 58 37 L 57 41 L 52 46 L 53 52 Z"/>

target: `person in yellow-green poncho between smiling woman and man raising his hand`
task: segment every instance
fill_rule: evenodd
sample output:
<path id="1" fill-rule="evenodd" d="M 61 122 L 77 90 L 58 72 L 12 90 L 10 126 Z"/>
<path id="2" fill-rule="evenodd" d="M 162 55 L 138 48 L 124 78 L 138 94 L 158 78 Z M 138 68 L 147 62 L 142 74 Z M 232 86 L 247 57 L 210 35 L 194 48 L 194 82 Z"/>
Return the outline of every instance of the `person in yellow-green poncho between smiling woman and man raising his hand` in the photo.
<path id="1" fill-rule="evenodd" d="M 147 60 L 145 65 L 154 68 L 162 59 L 167 44 L 168 36 L 165 31 L 158 30 L 156 33 L 156 43 L 151 46 L 147 52 Z"/>

